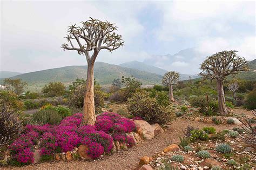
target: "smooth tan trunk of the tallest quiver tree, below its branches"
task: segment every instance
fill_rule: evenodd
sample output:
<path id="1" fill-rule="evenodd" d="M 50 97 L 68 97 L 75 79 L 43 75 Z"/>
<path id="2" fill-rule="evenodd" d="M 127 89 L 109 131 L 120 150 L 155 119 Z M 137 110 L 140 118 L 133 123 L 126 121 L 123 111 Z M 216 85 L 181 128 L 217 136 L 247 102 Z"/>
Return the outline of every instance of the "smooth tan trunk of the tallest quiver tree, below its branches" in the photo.
<path id="1" fill-rule="evenodd" d="M 88 63 L 82 125 L 94 125 L 96 122 L 93 66 L 94 66 L 94 63 L 90 63 L 90 62 Z"/>

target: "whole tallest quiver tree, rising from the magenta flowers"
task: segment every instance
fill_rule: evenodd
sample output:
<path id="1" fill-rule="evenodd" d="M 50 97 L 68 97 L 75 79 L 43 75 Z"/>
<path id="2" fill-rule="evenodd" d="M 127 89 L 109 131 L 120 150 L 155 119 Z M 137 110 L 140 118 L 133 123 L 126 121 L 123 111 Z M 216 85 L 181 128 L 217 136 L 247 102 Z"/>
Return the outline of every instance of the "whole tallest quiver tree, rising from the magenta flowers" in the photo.
<path id="1" fill-rule="evenodd" d="M 63 44 L 62 48 L 75 50 L 79 55 L 86 57 L 88 67 L 82 125 L 93 125 L 96 122 L 93 74 L 96 57 L 100 50 L 106 49 L 112 52 L 123 46 L 124 41 L 121 35 L 114 32 L 117 30 L 116 24 L 93 18 L 81 24 L 82 27 L 76 24 L 69 26 L 68 35 L 65 38 L 71 46 Z"/>

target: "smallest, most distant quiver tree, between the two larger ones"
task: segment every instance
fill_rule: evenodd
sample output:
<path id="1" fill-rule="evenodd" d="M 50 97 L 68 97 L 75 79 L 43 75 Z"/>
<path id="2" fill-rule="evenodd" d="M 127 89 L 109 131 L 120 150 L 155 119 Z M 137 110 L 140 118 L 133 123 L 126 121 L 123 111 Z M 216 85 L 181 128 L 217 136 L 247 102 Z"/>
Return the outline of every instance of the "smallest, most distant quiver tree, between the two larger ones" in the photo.
<path id="1" fill-rule="evenodd" d="M 172 85 L 176 84 L 179 80 L 179 73 L 175 71 L 169 71 L 164 74 L 162 83 L 164 86 L 169 86 L 169 99 L 175 101 L 172 92 Z"/>

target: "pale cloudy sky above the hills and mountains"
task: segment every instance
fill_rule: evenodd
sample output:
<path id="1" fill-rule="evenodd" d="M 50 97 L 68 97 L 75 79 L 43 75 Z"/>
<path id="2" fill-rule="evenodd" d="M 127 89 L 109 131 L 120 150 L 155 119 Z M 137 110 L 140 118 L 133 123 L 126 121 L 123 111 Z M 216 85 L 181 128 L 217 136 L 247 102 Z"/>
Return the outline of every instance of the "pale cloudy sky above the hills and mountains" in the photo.
<path id="1" fill-rule="evenodd" d="M 215 52 L 237 50 L 256 58 L 255 1 L 1 1 L 0 71 L 32 72 L 87 65 L 63 51 L 66 30 L 89 17 L 116 23 L 125 46 L 100 51 L 96 62 L 138 60 L 196 74 Z M 197 55 L 176 56 L 193 48 Z M 169 54 L 169 55 L 168 55 Z M 151 62 L 147 62 L 147 61 Z"/>

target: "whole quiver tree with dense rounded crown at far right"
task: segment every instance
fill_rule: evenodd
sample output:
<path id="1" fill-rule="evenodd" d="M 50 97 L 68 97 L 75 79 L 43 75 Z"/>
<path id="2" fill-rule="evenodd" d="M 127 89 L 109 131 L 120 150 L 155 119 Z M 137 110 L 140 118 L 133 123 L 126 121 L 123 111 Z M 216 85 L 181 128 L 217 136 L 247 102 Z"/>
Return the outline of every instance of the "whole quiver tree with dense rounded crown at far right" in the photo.
<path id="1" fill-rule="evenodd" d="M 217 81 L 219 113 L 227 114 L 223 83 L 228 75 L 248 70 L 248 62 L 243 57 L 237 56 L 237 51 L 221 51 L 207 57 L 200 67 L 199 74 L 204 78 Z"/>

